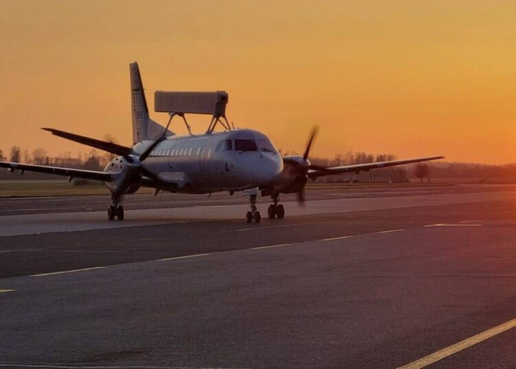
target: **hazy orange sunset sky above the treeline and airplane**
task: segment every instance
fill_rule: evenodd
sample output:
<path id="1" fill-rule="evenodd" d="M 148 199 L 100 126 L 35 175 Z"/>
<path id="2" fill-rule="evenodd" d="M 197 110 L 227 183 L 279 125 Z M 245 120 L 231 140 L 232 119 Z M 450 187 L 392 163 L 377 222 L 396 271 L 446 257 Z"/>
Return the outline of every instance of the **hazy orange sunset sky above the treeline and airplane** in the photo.
<path id="1" fill-rule="evenodd" d="M 39 127 L 129 145 L 136 60 L 149 106 L 225 89 L 283 150 L 317 124 L 316 156 L 516 162 L 515 19 L 515 1 L 6 1 L 0 149 L 89 151 Z"/>

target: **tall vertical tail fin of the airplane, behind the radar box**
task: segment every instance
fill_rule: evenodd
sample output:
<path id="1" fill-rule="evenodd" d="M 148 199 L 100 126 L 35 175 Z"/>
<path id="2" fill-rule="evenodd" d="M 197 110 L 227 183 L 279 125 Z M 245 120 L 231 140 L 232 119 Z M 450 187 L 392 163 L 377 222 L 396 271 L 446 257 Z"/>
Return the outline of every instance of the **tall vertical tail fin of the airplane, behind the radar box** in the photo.
<path id="1" fill-rule="evenodd" d="M 145 99 L 142 76 L 138 63 L 129 64 L 131 73 L 131 112 L 133 117 L 133 143 L 142 140 L 154 140 L 162 135 L 165 128 L 149 118 L 149 107 Z M 172 136 L 173 132 L 167 130 L 165 136 Z"/>

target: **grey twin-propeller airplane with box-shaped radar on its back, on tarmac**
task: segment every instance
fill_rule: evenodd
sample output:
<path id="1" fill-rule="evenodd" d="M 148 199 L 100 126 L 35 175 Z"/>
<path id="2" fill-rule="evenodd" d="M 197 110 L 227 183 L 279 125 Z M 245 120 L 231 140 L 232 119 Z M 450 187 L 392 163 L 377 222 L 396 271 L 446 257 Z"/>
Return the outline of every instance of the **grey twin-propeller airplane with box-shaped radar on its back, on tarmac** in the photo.
<path id="1" fill-rule="evenodd" d="M 140 187 L 174 193 L 213 193 L 244 191 L 250 198 L 250 211 L 246 222 L 260 222 L 256 207 L 257 194 L 270 196 L 268 218 L 283 218 L 285 208 L 279 204 L 281 193 L 297 193 L 299 202 L 304 202 L 304 189 L 308 179 L 321 176 L 391 167 L 413 162 L 436 160 L 444 156 L 428 156 L 407 160 L 369 162 L 339 167 L 312 165 L 308 156 L 316 131 L 312 131 L 308 145 L 301 155 L 279 154 L 270 139 L 252 129 L 235 129 L 226 120 L 226 92 L 155 92 L 155 110 L 169 112 L 170 119 L 162 127 L 149 118 L 149 109 L 144 94 L 142 78 L 137 63 L 129 65 L 131 76 L 131 107 L 133 145 L 123 146 L 104 140 L 96 140 L 58 129 L 43 128 L 55 136 L 67 138 L 102 149 L 117 157 L 111 160 L 104 171 L 30 165 L 17 162 L 0 162 L 0 167 L 9 171 L 36 171 L 57 176 L 85 178 L 105 182 L 111 191 L 111 205 L 107 209 L 109 220 L 124 219 L 122 197 L 135 193 Z M 204 134 L 192 134 L 184 114 L 211 114 L 212 119 Z M 174 116 L 180 116 L 189 131 L 179 136 L 169 130 Z M 223 131 L 215 131 L 217 124 Z"/>

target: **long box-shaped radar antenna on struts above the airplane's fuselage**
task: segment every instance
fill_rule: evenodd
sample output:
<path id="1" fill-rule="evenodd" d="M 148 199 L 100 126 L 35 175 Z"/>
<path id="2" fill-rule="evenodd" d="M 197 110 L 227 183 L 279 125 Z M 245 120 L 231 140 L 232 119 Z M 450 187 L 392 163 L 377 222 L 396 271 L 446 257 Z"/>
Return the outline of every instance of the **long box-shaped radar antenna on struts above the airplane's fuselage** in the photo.
<path id="1" fill-rule="evenodd" d="M 180 116 L 184 120 L 186 129 L 192 134 L 191 126 L 186 120 L 185 114 L 209 114 L 211 122 L 208 125 L 206 133 L 211 133 L 220 123 L 224 129 L 230 131 L 235 129 L 233 124 L 230 125 L 226 118 L 226 105 L 228 104 L 229 95 L 225 91 L 217 92 L 176 92 L 176 91 L 156 91 L 154 92 L 154 110 L 155 112 L 169 113 L 169 123 L 174 116 Z"/>

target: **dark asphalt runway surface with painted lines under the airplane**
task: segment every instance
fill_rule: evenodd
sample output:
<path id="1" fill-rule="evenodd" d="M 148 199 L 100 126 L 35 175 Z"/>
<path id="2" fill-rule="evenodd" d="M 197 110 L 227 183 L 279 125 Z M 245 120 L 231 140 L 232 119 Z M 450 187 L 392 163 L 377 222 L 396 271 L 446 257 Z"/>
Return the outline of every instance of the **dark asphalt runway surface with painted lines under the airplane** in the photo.
<path id="1" fill-rule="evenodd" d="M 515 186 L 307 198 L 0 199 L 0 367 L 516 366 Z"/>

